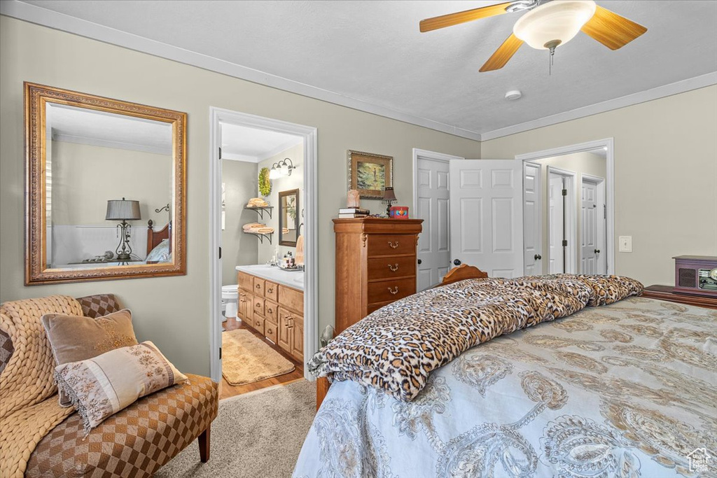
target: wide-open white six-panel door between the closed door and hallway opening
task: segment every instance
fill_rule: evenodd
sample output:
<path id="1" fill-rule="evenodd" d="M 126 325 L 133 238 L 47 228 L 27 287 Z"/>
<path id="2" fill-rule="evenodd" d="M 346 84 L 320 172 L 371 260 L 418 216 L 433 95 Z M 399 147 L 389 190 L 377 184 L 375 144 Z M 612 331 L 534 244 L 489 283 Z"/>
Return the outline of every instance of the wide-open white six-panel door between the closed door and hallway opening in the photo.
<path id="1" fill-rule="evenodd" d="M 523 274 L 522 175 L 522 161 L 450 161 L 452 265 L 489 277 Z"/>

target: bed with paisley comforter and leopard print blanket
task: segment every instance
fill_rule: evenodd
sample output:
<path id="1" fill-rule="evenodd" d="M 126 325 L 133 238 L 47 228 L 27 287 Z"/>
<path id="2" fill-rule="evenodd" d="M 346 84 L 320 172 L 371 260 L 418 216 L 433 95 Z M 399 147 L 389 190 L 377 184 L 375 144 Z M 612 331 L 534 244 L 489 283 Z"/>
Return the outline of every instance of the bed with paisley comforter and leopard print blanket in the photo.
<path id="1" fill-rule="evenodd" d="M 717 477 L 717 311 L 591 277 L 462 280 L 338 335 L 308 364 L 333 384 L 293 476 Z"/>

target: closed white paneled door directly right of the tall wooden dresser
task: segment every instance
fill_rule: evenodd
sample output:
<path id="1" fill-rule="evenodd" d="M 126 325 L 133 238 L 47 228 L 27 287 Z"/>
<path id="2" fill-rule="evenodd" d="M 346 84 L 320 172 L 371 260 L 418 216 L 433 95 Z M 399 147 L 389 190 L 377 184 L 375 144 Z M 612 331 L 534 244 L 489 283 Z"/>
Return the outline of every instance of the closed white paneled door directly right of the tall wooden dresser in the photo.
<path id="1" fill-rule="evenodd" d="M 423 219 L 423 231 L 418 236 L 416 284 L 421 291 L 441 282 L 450 269 L 448 161 L 418 156 L 416 188 L 416 214 Z"/>

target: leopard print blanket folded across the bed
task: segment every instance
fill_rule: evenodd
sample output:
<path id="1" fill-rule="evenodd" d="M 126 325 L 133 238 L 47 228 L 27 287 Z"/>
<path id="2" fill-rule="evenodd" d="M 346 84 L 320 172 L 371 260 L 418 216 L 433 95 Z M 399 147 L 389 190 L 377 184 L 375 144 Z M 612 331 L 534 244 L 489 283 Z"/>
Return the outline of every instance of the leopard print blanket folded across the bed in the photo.
<path id="1" fill-rule="evenodd" d="M 556 274 L 468 279 L 419 292 L 356 322 L 308 363 L 314 376 L 353 380 L 411 401 L 436 368 L 499 335 L 642 294 L 619 276 Z"/>

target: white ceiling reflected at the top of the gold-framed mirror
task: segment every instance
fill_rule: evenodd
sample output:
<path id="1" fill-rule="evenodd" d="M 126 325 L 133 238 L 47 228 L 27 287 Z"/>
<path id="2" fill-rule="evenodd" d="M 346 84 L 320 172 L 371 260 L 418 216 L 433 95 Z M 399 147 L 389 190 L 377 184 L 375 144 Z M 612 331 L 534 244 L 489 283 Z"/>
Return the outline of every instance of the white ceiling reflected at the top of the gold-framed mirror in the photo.
<path id="1" fill-rule="evenodd" d="M 172 125 L 134 116 L 47 104 L 52 139 L 105 148 L 172 154 Z"/>

